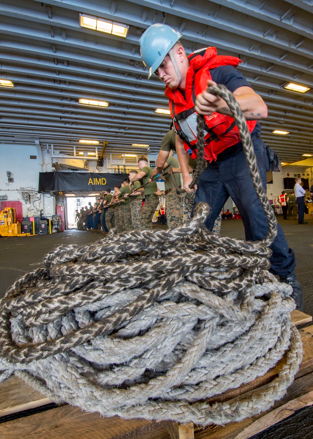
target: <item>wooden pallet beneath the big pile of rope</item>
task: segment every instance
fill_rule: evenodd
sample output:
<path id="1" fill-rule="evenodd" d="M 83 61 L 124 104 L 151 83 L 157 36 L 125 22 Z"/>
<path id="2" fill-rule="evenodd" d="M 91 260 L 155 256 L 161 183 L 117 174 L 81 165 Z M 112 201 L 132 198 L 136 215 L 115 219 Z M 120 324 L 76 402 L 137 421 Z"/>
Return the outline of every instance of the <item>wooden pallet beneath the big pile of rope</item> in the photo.
<path id="1" fill-rule="evenodd" d="M 299 326 L 312 321 L 312 317 L 293 311 L 292 320 Z M 300 334 L 304 356 L 295 382 L 271 410 L 242 422 L 231 422 L 225 427 L 209 425 L 203 429 L 192 423 L 178 425 L 172 421 L 105 418 L 68 405 L 48 410 L 52 403 L 49 398 L 12 375 L 0 384 L 0 439 L 248 439 L 295 410 L 313 404 L 313 326 L 301 329 Z M 266 385 L 277 376 L 284 361 L 283 358 L 263 377 L 209 401 L 226 401 Z M 36 407 L 47 410 L 29 414 Z M 16 418 L 10 420 L 9 415 Z"/>

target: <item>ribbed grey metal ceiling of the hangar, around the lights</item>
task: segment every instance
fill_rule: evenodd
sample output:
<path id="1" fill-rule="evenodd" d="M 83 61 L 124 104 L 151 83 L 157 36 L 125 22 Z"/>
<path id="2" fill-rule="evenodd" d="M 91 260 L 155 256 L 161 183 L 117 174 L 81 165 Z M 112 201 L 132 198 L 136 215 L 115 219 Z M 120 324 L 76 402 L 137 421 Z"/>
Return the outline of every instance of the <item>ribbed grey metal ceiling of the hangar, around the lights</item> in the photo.
<path id="1" fill-rule="evenodd" d="M 171 119 L 154 112 L 167 99 L 164 85 L 147 79 L 139 38 L 159 22 L 180 30 L 188 53 L 211 45 L 239 56 L 239 69 L 269 108 L 263 140 L 282 161 L 298 161 L 313 151 L 313 90 L 283 87 L 313 88 L 312 12 L 313 0 L 2 0 L 0 78 L 15 87 L 0 87 L 0 142 L 39 140 L 70 152 L 88 138 L 108 141 L 107 153 L 138 153 L 132 143 L 158 151 Z M 82 28 L 79 13 L 128 24 L 128 36 Z M 83 106 L 79 98 L 109 107 Z"/>

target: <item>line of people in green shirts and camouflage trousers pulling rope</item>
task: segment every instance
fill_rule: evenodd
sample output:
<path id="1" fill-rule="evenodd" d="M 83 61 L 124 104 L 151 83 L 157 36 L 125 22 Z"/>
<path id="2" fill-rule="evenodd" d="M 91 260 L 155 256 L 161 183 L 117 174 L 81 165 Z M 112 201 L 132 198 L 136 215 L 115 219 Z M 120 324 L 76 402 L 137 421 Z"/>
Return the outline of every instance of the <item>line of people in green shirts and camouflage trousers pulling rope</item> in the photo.
<path id="1" fill-rule="evenodd" d="M 174 130 L 169 133 L 173 137 Z M 110 188 L 107 188 L 105 196 L 98 198 L 93 206 L 89 202 L 89 206 L 82 208 L 79 213 L 77 211 L 78 230 L 108 234 L 112 227 L 116 227 L 118 232 L 152 229 L 152 219 L 158 205 L 161 205 L 162 195 L 166 200 L 168 227 L 180 226 L 190 219 L 195 193 L 179 192 L 179 189 L 181 190 L 179 163 L 173 157 L 174 144 L 170 142 L 169 145 L 172 148 L 166 153 L 167 157 L 162 165 L 159 160 L 156 162 L 156 169 L 152 169 L 148 166 L 145 157 L 139 158 L 139 172 L 130 171 L 128 178 L 121 182 L 121 187 L 119 185 L 114 187 L 113 195 L 110 193 Z M 190 169 L 191 173 L 196 166 L 196 160 L 194 162 L 194 166 Z M 164 182 L 164 190 L 158 189 L 156 177 Z M 140 181 L 143 181 L 142 185 Z M 217 218 L 213 231 L 219 234 L 220 228 L 221 216 Z"/>

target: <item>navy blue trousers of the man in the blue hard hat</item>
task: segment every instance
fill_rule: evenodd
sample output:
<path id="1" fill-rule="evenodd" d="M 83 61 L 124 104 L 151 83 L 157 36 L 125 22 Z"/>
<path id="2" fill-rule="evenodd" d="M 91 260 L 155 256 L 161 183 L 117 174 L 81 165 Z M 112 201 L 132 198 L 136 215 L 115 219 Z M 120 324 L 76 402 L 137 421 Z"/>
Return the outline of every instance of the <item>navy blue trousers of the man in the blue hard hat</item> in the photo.
<path id="1" fill-rule="evenodd" d="M 252 141 L 263 186 L 266 188 L 266 173 L 269 170 L 266 146 L 260 137 L 254 136 Z M 206 169 L 200 175 L 193 209 L 200 201 L 210 205 L 212 212 L 205 223 L 209 230 L 213 229 L 214 221 L 229 196 L 235 202 L 242 217 L 245 239 L 247 241 L 263 239 L 267 235 L 268 221 L 256 196 L 242 147 L 229 154 L 225 151 L 222 161 L 207 163 Z M 273 252 L 270 258 L 270 271 L 280 276 L 288 276 L 292 273 L 295 269 L 295 254 L 288 247 L 279 224 L 277 236 L 270 249 Z"/>

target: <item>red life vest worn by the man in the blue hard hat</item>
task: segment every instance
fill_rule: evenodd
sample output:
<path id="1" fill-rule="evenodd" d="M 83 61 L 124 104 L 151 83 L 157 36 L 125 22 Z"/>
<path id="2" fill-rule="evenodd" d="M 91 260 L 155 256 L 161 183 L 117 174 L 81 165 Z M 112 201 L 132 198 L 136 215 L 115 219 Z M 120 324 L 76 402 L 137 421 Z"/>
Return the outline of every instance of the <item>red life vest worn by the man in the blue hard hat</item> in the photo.
<path id="1" fill-rule="evenodd" d="M 169 108 L 174 122 L 174 129 L 183 140 L 185 151 L 196 158 L 197 113 L 194 108 L 196 96 L 207 88 L 207 80 L 212 79 L 210 69 L 222 65 L 237 67 L 239 58 L 217 55 L 215 47 L 196 50 L 189 55 L 185 97 L 179 88 L 171 90 L 165 86 L 165 95 L 169 98 Z M 217 159 L 217 155 L 232 145 L 240 142 L 240 135 L 235 119 L 214 112 L 204 116 L 206 131 L 204 135 L 204 158 L 209 162 Z M 247 120 L 250 133 L 256 126 L 256 120 Z"/>

